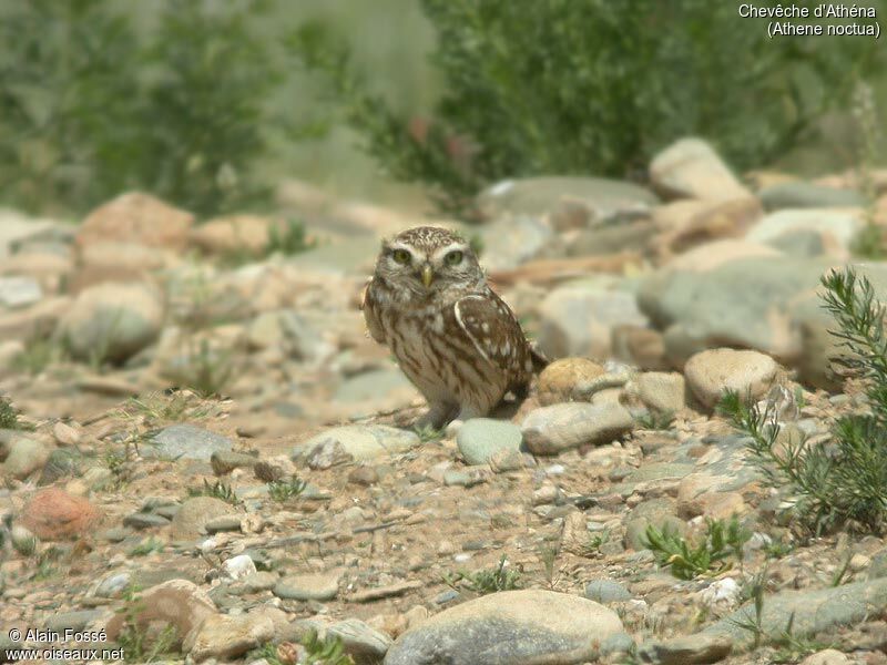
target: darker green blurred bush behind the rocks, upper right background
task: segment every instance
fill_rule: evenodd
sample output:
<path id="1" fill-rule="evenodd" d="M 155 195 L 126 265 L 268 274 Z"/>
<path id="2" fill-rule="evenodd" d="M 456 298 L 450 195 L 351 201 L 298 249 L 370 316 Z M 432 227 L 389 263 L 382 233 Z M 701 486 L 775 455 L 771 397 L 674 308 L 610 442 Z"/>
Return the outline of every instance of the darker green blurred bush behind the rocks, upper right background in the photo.
<path id="1" fill-rule="evenodd" d="M 765 163 L 847 100 L 877 48 L 771 40 L 765 21 L 705 0 L 421 4 L 445 81 L 431 122 L 399 117 L 322 24 L 304 25 L 294 45 L 365 150 L 451 209 L 502 177 L 633 175 L 687 134 L 714 141 L 740 167 Z"/>

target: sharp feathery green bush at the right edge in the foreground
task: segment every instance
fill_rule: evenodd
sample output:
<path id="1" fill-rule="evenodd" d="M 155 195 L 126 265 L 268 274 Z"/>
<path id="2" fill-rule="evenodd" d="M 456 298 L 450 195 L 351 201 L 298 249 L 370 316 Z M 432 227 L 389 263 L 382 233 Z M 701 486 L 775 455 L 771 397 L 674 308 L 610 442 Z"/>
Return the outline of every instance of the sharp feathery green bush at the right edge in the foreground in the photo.
<path id="1" fill-rule="evenodd" d="M 848 355 L 838 361 L 866 381 L 870 411 L 845 416 L 832 442 L 777 446 L 772 408 L 759 409 L 728 392 L 721 408 L 748 434 L 748 450 L 771 485 L 782 488 L 801 523 L 815 533 L 842 525 L 883 532 L 887 526 L 887 310 L 871 283 L 852 268 L 824 276 L 825 307 L 835 317 Z"/>

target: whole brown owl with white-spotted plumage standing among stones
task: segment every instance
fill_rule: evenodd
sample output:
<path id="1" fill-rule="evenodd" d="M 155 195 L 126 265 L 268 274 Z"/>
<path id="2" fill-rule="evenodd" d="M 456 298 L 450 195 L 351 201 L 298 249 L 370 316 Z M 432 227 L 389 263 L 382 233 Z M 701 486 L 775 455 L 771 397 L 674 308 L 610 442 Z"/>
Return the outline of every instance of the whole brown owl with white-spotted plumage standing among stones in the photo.
<path id="1" fill-rule="evenodd" d="M 544 365 L 469 244 L 446 228 L 384 242 L 363 309 L 373 338 L 428 400 L 420 426 L 486 416 Z"/>

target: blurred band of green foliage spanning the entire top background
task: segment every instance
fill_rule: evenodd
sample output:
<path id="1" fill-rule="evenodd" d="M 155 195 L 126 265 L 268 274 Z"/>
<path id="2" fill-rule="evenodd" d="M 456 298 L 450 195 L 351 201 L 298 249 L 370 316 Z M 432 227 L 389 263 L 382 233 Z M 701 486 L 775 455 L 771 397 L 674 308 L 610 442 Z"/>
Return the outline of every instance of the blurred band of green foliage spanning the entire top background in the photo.
<path id="1" fill-rule="evenodd" d="M 687 133 L 740 168 L 810 127 L 847 145 L 824 114 L 877 42 L 765 29 L 705 0 L 2 3 L 0 204 L 139 187 L 210 215 L 267 205 L 282 174 L 379 197 L 381 166 L 459 208 L 500 177 L 642 177 Z"/>

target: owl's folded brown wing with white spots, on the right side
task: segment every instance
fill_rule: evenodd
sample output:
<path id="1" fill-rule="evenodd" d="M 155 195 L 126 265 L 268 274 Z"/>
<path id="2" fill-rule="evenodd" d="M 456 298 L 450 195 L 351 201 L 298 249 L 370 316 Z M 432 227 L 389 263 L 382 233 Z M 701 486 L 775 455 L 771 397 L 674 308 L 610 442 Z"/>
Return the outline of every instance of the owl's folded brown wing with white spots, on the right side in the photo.
<path id="1" fill-rule="evenodd" d="M 523 330 L 499 296 L 492 291 L 466 296 L 453 310 L 457 324 L 482 357 L 512 370 L 516 378 L 532 371 Z"/>

